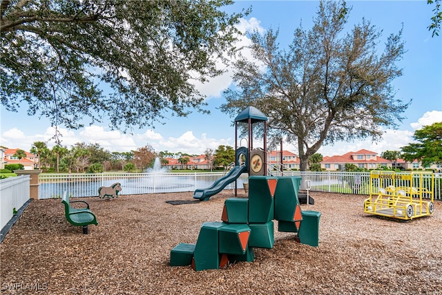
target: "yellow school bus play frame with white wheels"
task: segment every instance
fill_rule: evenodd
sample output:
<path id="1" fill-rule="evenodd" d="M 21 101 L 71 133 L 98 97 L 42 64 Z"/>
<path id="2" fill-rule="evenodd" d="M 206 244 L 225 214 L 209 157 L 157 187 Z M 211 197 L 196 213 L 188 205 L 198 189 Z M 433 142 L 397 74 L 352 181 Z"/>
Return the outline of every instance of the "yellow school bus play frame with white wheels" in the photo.
<path id="1" fill-rule="evenodd" d="M 370 196 L 364 201 L 364 212 L 412 220 L 430 216 L 434 211 L 434 173 L 372 171 Z"/>

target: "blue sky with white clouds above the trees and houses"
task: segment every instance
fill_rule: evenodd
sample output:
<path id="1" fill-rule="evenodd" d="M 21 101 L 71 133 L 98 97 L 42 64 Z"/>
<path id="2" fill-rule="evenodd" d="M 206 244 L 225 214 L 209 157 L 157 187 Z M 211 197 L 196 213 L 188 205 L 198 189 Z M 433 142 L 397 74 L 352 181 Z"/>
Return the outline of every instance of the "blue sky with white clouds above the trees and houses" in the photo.
<path id="1" fill-rule="evenodd" d="M 318 1 L 237 1 L 227 8 L 229 12 L 252 6 L 251 15 L 242 20 L 242 30 L 256 28 L 261 32 L 279 28 L 280 48 L 287 48 L 292 41 L 295 28 L 311 27 Z M 385 130 L 383 140 L 370 139 L 358 142 L 340 142 L 334 146 L 323 146 L 323 155 L 340 155 L 358 149 L 381 153 L 398 150 L 412 141 L 412 135 L 421 126 L 442 121 L 442 37 L 431 37 L 427 30 L 434 6 L 421 1 L 347 1 L 352 7 L 347 28 L 351 29 L 363 17 L 376 28 L 383 30 L 383 39 L 397 33 L 403 27 L 405 53 L 399 66 L 403 75 L 394 80 L 396 99 L 411 106 L 403 114 L 406 119 L 398 130 Z M 243 39 L 242 44 L 248 40 Z M 381 43 L 381 46 L 383 43 Z M 112 131 L 106 124 L 87 126 L 69 131 L 61 126 L 62 144 L 70 147 L 76 142 L 99 143 L 109 151 L 131 151 L 151 144 L 155 151 L 201 154 L 205 149 L 216 149 L 220 144 L 234 146 L 235 129 L 233 118 L 221 113 L 218 108 L 224 102 L 222 90 L 231 84 L 231 73 L 213 79 L 209 84 L 198 86 L 208 95 L 206 102 L 211 115 L 193 113 L 186 118 L 168 117 L 165 124 L 156 124 L 155 129 L 133 129 L 132 134 Z M 29 151 L 32 142 L 47 141 L 55 134 L 46 118 L 26 115 L 26 108 L 19 113 L 10 113 L 1 107 L 0 145 Z M 54 142 L 49 141 L 52 147 Z M 297 153 L 294 145 L 285 144 L 285 150 Z"/>

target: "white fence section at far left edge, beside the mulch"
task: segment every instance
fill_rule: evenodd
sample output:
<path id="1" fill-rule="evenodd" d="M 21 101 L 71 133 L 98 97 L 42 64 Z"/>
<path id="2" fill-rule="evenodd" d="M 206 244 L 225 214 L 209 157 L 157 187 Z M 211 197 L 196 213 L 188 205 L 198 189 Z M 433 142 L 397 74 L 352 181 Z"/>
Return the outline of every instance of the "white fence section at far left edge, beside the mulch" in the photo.
<path id="1" fill-rule="evenodd" d="M 30 175 L 21 175 L 0 180 L 0 229 L 29 200 Z"/>

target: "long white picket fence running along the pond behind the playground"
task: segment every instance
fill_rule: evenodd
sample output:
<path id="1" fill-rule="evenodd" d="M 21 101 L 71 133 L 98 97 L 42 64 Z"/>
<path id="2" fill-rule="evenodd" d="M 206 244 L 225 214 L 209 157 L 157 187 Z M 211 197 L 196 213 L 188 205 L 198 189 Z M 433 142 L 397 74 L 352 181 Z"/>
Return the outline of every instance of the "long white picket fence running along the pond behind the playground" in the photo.
<path id="1" fill-rule="evenodd" d="M 284 171 L 272 172 L 273 175 L 298 176 L 301 190 L 325 191 L 333 193 L 369 194 L 369 172 L 310 172 Z M 213 182 L 222 178 L 222 172 L 207 173 L 97 173 L 97 174 L 45 174 L 39 175 L 39 198 L 60 198 L 64 191 L 73 197 L 98 196 L 99 187 L 111 187 L 115 182 L 122 185 L 119 195 L 146 193 L 173 193 L 195 191 L 210 187 Z M 441 198 L 442 176 L 435 173 L 434 199 Z M 238 189 L 248 182 L 247 173 L 237 180 Z M 235 182 L 225 189 L 234 189 Z"/>

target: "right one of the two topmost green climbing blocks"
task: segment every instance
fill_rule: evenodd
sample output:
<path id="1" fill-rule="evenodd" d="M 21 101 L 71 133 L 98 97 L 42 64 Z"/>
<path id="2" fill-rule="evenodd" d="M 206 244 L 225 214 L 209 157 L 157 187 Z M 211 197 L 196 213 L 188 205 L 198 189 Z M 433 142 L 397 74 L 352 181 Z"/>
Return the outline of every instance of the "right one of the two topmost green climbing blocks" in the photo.
<path id="1" fill-rule="evenodd" d="M 298 191 L 301 178 L 295 176 L 278 177 L 275 191 L 275 219 L 294 221 L 296 206 L 299 204 Z"/>

